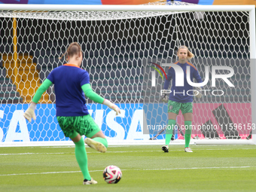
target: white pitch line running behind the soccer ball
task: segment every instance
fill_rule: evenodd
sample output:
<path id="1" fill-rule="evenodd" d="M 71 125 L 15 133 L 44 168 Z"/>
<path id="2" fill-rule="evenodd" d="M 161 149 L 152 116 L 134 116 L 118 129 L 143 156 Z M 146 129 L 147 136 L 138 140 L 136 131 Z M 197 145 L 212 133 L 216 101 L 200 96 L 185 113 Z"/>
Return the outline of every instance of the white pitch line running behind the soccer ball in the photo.
<path id="1" fill-rule="evenodd" d="M 244 169 L 253 168 L 254 166 L 212 166 L 212 167 L 184 167 L 184 168 L 170 168 L 170 169 L 122 169 L 122 171 L 166 171 L 166 170 L 185 170 L 185 169 Z M 5 174 L 0 176 L 13 176 L 13 175 L 46 175 L 46 174 L 59 174 L 59 173 L 75 173 L 81 171 L 70 172 L 31 172 L 31 173 L 14 173 Z M 89 172 L 102 172 L 102 170 L 93 170 Z"/>

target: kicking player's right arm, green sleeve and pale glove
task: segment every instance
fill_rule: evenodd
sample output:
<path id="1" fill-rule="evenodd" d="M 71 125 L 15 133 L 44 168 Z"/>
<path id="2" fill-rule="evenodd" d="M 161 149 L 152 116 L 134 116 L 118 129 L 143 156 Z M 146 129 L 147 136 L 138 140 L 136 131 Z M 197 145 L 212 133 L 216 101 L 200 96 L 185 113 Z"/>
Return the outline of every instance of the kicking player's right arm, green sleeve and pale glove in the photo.
<path id="1" fill-rule="evenodd" d="M 107 105 L 108 108 L 114 109 L 114 111 L 116 111 L 116 115 L 120 114 L 120 108 L 118 108 L 117 105 L 114 105 L 114 103 L 112 103 L 108 99 L 104 99 L 102 96 L 99 96 L 97 93 L 95 93 L 92 90 L 92 87 L 90 87 L 90 84 L 84 84 L 81 88 L 84 91 L 85 96 L 93 100 L 93 102 Z"/>

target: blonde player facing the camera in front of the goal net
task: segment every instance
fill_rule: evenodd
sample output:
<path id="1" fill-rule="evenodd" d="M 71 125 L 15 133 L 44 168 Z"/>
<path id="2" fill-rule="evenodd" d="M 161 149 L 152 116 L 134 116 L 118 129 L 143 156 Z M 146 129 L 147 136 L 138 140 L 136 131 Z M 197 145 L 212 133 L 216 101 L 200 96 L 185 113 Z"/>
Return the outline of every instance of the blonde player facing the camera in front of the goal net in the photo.
<path id="1" fill-rule="evenodd" d="M 184 72 L 184 87 L 176 87 L 175 86 L 175 70 L 172 67 L 169 67 L 167 79 L 163 85 L 163 95 L 161 100 L 163 102 L 168 102 L 168 126 L 166 126 L 166 145 L 163 145 L 162 150 L 164 152 L 169 152 L 169 142 L 172 139 L 172 131 L 173 127 L 176 123 L 176 117 L 178 115 L 179 110 L 184 117 L 184 127 L 185 127 L 185 152 L 193 152 L 189 148 L 190 137 L 191 137 L 191 124 L 193 117 L 193 87 L 187 83 L 186 73 L 187 66 L 190 67 L 190 80 L 193 82 L 193 78 L 197 80 L 198 83 L 202 83 L 202 78 L 197 71 L 197 68 L 188 62 L 188 59 L 194 57 L 194 54 L 191 53 L 186 46 L 178 47 L 178 62 L 175 62 L 175 65 L 181 67 Z M 172 89 L 169 94 L 169 98 L 166 95 L 168 92 L 169 83 L 172 80 Z M 189 91 L 191 90 L 191 91 Z M 202 97 L 201 88 L 197 87 L 197 90 L 194 92 L 194 95 L 197 98 Z M 165 92 L 166 91 L 166 92 Z M 191 93 L 190 93 L 191 92 Z M 188 93 L 188 94 L 187 94 Z"/>

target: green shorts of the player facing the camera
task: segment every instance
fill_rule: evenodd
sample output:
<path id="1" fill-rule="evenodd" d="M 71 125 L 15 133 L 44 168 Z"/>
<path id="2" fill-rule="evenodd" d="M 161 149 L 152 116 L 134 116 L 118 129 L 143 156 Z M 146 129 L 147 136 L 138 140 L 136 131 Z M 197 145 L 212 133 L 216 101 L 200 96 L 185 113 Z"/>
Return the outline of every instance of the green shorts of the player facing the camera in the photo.
<path id="1" fill-rule="evenodd" d="M 180 109 L 182 114 L 193 113 L 193 103 L 168 101 L 168 112 L 178 114 Z"/>

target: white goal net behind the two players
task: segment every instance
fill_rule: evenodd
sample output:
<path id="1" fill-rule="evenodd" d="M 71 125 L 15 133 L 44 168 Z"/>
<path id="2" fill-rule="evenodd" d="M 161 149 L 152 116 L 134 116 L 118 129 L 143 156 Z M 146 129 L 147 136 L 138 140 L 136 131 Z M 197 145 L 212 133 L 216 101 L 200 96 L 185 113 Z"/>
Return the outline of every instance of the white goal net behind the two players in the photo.
<path id="1" fill-rule="evenodd" d="M 19 5 L 19 11 L 14 5 L 1 5 L 0 145 L 69 143 L 55 117 L 54 87 L 39 101 L 35 121 L 26 121 L 23 111 L 51 70 L 66 63 L 59 56 L 73 41 L 84 51 L 81 68 L 89 72 L 93 90 L 121 108 L 116 117 L 105 105 L 87 99 L 90 114 L 110 143 L 163 143 L 164 134 L 156 141 L 149 140 L 168 121 L 167 105 L 160 102 L 165 76 L 152 63 L 167 72 L 183 44 L 195 54 L 190 62 L 203 80 L 208 74 L 206 66 L 210 69 L 203 87 L 210 91 L 201 99 L 194 98 L 193 125 L 197 128 L 192 130 L 192 142 L 250 139 L 254 127 L 250 66 L 250 56 L 254 56 L 251 38 L 255 39 L 250 32 L 253 8 L 240 6 L 239 11 L 230 6 L 230 11 L 223 11 L 215 6 L 185 5 L 189 4 L 59 6 L 59 10 Z M 212 66 L 232 68 L 234 75 L 228 80 L 234 87 L 220 78 L 213 87 Z M 217 75 L 228 73 L 216 70 Z M 175 130 L 175 141 L 182 142 L 181 115 L 177 125 L 180 129 Z"/>

